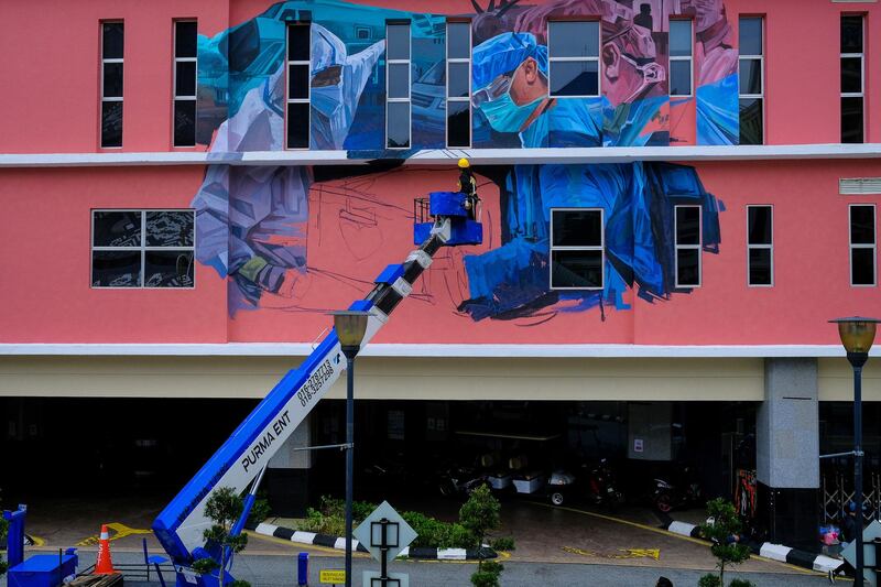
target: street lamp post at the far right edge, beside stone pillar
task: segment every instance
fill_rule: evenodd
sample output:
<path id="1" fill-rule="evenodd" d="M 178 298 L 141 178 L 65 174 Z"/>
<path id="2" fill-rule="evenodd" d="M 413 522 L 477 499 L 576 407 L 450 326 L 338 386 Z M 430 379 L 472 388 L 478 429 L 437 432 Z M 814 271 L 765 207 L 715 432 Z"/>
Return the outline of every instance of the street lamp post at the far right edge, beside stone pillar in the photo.
<path id="1" fill-rule="evenodd" d="M 862 366 L 869 360 L 869 349 L 874 341 L 875 318 L 837 318 L 838 335 L 847 350 L 847 360 L 853 368 L 853 502 L 857 504 L 857 564 L 853 587 L 862 587 Z"/>

